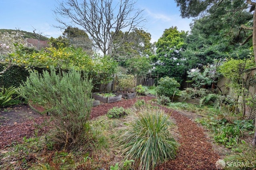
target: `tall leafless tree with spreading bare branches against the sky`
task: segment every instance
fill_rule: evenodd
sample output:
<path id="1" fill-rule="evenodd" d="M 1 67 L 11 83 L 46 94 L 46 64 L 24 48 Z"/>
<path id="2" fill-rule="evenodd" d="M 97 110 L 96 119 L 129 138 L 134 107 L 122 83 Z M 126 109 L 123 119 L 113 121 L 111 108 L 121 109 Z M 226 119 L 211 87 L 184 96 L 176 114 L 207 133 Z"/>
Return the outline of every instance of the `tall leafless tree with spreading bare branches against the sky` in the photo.
<path id="1" fill-rule="evenodd" d="M 136 1 L 118 1 L 118 4 L 113 4 L 113 0 L 64 0 L 58 2 L 54 13 L 56 20 L 65 27 L 82 27 L 92 38 L 93 47 L 104 55 L 111 55 L 113 47 L 122 44 L 113 43 L 118 32 L 122 29 L 129 32 L 145 21 L 143 10 L 134 9 Z M 70 22 L 60 17 L 68 18 Z"/>

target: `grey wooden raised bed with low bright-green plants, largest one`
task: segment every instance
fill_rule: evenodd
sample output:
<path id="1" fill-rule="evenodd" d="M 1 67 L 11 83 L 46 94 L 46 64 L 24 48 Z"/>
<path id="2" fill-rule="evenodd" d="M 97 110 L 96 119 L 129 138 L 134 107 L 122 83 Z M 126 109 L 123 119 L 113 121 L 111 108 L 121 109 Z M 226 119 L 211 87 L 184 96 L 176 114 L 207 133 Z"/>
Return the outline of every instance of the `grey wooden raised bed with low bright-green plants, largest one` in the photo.
<path id="1" fill-rule="evenodd" d="M 92 97 L 95 100 L 100 100 L 101 102 L 104 102 L 104 103 L 118 102 L 122 100 L 122 95 L 120 94 L 105 93 L 105 92 L 93 93 Z"/>

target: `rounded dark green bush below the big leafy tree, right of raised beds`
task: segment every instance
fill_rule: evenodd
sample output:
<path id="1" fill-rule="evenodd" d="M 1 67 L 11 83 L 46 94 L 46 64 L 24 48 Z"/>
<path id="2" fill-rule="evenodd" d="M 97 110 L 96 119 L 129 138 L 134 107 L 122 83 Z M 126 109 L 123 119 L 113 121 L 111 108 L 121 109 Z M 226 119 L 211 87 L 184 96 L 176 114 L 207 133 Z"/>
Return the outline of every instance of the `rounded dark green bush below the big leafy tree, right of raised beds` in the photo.
<path id="1" fill-rule="evenodd" d="M 166 76 L 158 81 L 156 92 L 158 95 L 171 97 L 179 91 L 178 87 L 180 87 L 180 84 L 174 78 Z"/>

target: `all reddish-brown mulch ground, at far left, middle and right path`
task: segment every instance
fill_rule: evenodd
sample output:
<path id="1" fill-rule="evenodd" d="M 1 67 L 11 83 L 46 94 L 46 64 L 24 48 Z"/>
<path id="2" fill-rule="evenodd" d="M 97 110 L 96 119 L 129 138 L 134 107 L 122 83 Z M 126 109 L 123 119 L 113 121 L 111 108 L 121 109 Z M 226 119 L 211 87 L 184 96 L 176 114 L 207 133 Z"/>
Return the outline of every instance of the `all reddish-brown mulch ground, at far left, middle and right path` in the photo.
<path id="1" fill-rule="evenodd" d="M 145 101 L 151 100 L 151 97 L 141 97 Z M 109 109 L 115 106 L 122 106 L 124 108 L 132 107 L 136 102 L 135 99 L 124 100 L 120 102 L 114 102 L 110 104 L 101 104 L 93 107 L 90 118 L 93 119 L 100 115 L 107 113 Z M 162 107 L 166 113 L 171 114 L 171 117 L 175 119 L 176 126 L 180 136 L 178 142 L 180 147 L 175 160 L 169 160 L 164 164 L 156 167 L 156 170 L 214 170 L 216 169 L 215 162 L 220 158 L 218 153 L 214 152 L 209 138 L 206 137 L 204 129 L 198 127 L 196 123 L 191 119 L 180 114 L 178 111 L 167 109 Z M 41 116 L 35 111 L 23 110 L 24 114 L 34 114 L 34 119 L 23 120 L 23 122 L 6 123 L 0 119 L 0 152 L 4 151 L 7 147 L 10 147 L 12 143 L 21 143 L 23 137 L 32 137 L 35 131 L 38 129 L 37 126 L 42 124 L 44 120 L 49 117 Z M 25 113 L 26 112 L 26 113 Z M 16 114 L 17 111 L 0 112 L 0 116 L 3 114 L 8 117 L 12 117 L 12 114 Z M 47 131 L 47 127 L 40 128 L 38 135 L 43 134 Z"/>

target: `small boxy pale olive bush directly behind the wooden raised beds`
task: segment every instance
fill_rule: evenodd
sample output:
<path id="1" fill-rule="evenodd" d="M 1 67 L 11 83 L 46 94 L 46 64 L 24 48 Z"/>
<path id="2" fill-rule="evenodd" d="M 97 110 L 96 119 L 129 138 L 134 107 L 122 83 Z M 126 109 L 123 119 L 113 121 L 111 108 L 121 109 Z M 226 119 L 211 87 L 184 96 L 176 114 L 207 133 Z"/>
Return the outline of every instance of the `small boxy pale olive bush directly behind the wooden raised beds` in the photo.
<path id="1" fill-rule="evenodd" d="M 134 76 L 132 74 L 121 74 L 118 76 L 118 86 L 116 89 L 130 92 L 134 85 Z"/>

